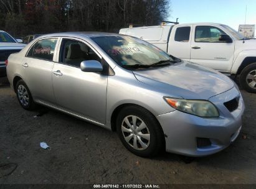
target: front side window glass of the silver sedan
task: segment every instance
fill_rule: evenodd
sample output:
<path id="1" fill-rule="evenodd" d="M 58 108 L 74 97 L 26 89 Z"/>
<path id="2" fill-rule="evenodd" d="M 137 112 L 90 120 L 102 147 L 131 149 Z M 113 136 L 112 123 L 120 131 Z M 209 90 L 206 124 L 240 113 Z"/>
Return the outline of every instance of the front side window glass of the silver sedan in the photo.
<path id="1" fill-rule="evenodd" d="M 101 58 L 98 57 L 97 53 L 83 42 L 72 39 L 62 40 L 59 62 L 80 68 L 80 63 L 83 60 L 97 60 L 101 62 Z"/>

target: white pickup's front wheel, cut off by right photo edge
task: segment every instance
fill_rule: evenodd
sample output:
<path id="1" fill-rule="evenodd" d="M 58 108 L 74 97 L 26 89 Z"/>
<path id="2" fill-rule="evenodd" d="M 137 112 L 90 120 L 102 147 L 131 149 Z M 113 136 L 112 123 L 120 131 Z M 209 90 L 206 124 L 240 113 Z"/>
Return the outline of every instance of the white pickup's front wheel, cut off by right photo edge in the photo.
<path id="1" fill-rule="evenodd" d="M 242 70 L 240 85 L 249 93 L 256 93 L 256 63 L 251 63 Z"/>

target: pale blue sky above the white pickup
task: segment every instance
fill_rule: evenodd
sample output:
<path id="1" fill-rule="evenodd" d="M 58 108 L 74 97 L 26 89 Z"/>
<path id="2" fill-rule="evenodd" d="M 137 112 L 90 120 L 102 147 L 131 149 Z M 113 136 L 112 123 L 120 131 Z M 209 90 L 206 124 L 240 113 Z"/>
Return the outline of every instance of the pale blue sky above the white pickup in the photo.
<path id="1" fill-rule="evenodd" d="M 239 24 L 256 24 L 256 0 L 171 0 L 169 21 L 217 22 L 238 30 Z"/>

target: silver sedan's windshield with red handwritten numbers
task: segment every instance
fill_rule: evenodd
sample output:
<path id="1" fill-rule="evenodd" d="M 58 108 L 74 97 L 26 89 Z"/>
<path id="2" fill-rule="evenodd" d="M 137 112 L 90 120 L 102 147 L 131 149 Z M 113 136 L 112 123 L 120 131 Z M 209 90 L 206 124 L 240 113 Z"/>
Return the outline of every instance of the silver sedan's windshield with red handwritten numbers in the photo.
<path id="1" fill-rule="evenodd" d="M 101 36 L 92 37 L 92 40 L 121 67 L 148 67 L 163 62 L 174 62 L 163 50 L 134 37 Z"/>

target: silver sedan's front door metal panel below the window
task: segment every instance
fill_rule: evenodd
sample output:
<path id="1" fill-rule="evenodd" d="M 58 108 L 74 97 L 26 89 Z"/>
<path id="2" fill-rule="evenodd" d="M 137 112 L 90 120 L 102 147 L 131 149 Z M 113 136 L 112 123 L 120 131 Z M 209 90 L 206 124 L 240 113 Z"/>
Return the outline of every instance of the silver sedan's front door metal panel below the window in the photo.
<path id="1" fill-rule="evenodd" d="M 61 63 L 55 63 L 54 70 L 62 73 L 52 76 L 58 106 L 105 124 L 108 76 Z"/>

